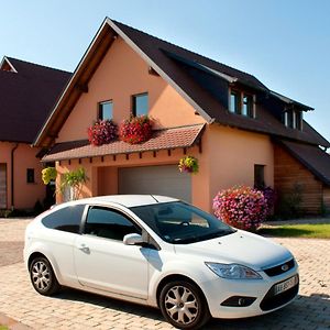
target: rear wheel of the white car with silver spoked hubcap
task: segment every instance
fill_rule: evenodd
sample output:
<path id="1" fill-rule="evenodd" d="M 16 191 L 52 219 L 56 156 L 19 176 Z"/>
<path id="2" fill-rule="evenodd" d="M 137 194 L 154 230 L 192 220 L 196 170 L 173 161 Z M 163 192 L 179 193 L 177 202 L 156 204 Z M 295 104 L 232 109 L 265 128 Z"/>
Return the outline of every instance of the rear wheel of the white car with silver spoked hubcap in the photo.
<path id="1" fill-rule="evenodd" d="M 44 296 L 51 296 L 59 290 L 51 263 L 42 256 L 34 258 L 30 266 L 30 277 L 36 292 Z"/>

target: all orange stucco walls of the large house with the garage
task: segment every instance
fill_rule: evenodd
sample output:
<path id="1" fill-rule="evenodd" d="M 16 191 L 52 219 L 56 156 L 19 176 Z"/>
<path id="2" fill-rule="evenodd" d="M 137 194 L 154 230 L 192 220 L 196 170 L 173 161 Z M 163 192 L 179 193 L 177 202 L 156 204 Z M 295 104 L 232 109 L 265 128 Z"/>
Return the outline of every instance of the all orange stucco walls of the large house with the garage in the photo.
<path id="1" fill-rule="evenodd" d="M 56 142 L 87 139 L 87 128 L 97 119 L 98 102 L 113 100 L 113 119 L 120 123 L 130 116 L 131 96 L 148 92 L 150 114 L 160 128 L 204 123 L 195 109 L 163 78 L 148 74 L 146 63 L 120 37 L 114 41 L 102 63 L 82 94 Z M 191 175 L 193 204 L 211 211 L 212 199 L 220 189 L 233 185 L 254 184 L 254 164 L 265 165 L 265 182 L 274 185 L 274 151 L 267 135 L 244 132 L 218 124 L 208 125 L 202 134 L 201 152 L 195 146 L 188 155 L 199 160 L 199 173 Z M 183 150 L 105 156 L 57 163 L 59 174 L 82 166 L 89 180 L 81 197 L 118 193 L 118 168 L 123 166 L 150 166 L 177 164 L 184 156 Z M 57 202 L 62 201 L 61 195 Z"/>

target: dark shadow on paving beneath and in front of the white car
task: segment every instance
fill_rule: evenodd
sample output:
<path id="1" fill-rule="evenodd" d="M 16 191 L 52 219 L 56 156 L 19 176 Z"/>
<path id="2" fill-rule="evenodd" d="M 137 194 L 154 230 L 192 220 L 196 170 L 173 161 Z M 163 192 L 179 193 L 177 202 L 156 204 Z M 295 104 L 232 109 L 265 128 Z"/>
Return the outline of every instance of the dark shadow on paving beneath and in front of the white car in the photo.
<path id="1" fill-rule="evenodd" d="M 56 299 L 78 300 L 109 308 L 119 314 L 132 314 L 138 317 L 146 317 L 155 321 L 164 321 L 161 311 L 156 308 L 141 306 L 122 300 L 101 297 L 98 295 L 65 288 L 54 296 Z M 221 327 L 221 328 L 220 328 Z M 274 312 L 245 319 L 226 320 L 212 319 L 204 329 L 330 329 L 330 296 L 314 294 L 311 296 L 298 296 L 288 306 Z"/>

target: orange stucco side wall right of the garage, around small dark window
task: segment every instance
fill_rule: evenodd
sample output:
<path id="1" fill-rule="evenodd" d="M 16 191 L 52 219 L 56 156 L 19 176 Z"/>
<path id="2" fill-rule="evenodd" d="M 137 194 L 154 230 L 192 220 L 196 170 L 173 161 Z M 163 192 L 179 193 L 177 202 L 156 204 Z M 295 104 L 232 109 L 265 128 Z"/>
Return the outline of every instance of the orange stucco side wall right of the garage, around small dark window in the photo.
<path id="1" fill-rule="evenodd" d="M 270 136 L 238 129 L 209 127 L 210 199 L 220 189 L 254 185 L 254 164 L 265 165 L 265 184 L 274 186 L 274 148 Z"/>

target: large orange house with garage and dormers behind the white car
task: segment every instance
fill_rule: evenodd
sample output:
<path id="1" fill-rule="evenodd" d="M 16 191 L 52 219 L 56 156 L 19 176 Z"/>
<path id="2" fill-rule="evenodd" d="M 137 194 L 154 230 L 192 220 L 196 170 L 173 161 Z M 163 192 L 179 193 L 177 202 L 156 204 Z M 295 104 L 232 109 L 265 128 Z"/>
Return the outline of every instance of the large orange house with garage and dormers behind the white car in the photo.
<path id="1" fill-rule="evenodd" d="M 330 143 L 306 121 L 312 110 L 270 90 L 254 76 L 106 19 L 53 109 L 35 145 L 59 174 L 79 166 L 82 196 L 160 194 L 210 210 L 219 189 L 265 184 L 292 194 L 306 211 L 330 206 Z M 91 146 L 87 128 L 147 113 L 153 139 Z M 180 174 L 184 155 L 197 175 Z M 57 196 L 57 201 L 62 197 Z"/>

